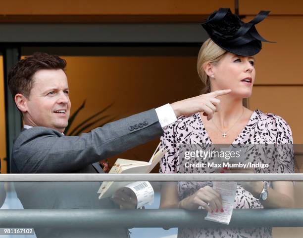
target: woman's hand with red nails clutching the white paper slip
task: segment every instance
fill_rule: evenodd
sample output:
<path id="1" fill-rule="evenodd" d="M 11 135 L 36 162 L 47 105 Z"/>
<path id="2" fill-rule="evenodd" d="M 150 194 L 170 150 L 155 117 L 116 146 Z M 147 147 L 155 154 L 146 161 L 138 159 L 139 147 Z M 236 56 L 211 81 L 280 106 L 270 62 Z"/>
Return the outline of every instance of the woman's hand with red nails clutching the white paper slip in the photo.
<path id="1" fill-rule="evenodd" d="M 188 210 L 198 209 L 202 206 L 209 212 L 224 212 L 221 195 L 209 186 L 199 189 L 196 193 L 179 202 L 179 208 Z"/>

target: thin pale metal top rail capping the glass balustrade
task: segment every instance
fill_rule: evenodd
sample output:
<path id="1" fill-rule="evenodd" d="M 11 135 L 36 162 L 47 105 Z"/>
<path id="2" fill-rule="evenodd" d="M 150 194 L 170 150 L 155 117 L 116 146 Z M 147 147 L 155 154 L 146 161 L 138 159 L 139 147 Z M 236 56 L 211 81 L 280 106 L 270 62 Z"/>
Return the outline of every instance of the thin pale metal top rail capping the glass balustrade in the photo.
<path id="1" fill-rule="evenodd" d="M 303 181 L 302 174 L 0 174 L 0 181 Z"/>

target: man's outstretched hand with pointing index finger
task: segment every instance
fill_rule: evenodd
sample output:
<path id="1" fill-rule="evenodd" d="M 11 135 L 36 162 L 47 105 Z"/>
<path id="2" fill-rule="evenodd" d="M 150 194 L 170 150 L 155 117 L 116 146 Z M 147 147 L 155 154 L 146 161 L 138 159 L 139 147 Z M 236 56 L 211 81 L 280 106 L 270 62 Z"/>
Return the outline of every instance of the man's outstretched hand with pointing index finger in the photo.
<path id="1" fill-rule="evenodd" d="M 172 103 L 171 107 L 177 118 L 182 115 L 190 116 L 198 112 L 203 112 L 203 115 L 207 116 L 207 120 L 210 120 L 213 114 L 218 111 L 218 105 L 220 104 L 220 100 L 216 97 L 229 94 L 230 92 L 230 89 L 213 91 Z"/>

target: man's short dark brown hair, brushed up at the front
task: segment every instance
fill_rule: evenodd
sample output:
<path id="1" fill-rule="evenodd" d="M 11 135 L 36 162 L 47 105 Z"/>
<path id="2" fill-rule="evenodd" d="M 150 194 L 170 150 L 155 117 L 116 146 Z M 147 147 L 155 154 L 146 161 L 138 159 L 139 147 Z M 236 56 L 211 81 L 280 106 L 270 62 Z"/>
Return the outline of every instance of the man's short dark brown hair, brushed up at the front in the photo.
<path id="1" fill-rule="evenodd" d="M 33 55 L 19 60 L 18 63 L 8 73 L 8 87 L 13 98 L 17 93 L 21 93 L 29 98 L 33 87 L 33 75 L 39 70 L 55 69 L 63 70 L 66 61 L 57 55 L 49 55 L 43 52 L 35 52 Z"/>

